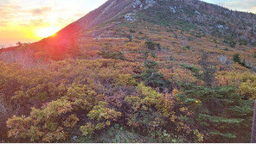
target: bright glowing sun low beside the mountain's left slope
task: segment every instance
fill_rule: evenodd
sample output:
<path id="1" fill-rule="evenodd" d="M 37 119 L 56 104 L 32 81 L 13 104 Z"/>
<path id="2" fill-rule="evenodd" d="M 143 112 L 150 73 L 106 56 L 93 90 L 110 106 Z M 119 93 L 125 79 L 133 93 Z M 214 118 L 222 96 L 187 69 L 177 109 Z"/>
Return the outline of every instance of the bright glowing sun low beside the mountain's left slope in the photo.
<path id="1" fill-rule="evenodd" d="M 48 36 L 54 35 L 60 29 L 60 27 L 39 28 L 35 31 L 35 35 L 40 38 L 46 38 Z"/>

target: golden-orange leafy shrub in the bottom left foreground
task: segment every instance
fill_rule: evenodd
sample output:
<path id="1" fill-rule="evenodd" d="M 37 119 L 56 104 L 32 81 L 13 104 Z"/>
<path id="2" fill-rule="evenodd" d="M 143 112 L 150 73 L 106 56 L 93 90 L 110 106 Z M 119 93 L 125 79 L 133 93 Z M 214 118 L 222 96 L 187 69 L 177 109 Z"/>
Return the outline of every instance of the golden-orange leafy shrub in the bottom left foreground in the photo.
<path id="1" fill-rule="evenodd" d="M 57 100 L 48 103 L 47 107 L 42 110 L 32 109 L 30 116 L 17 117 L 13 116 L 7 121 L 7 127 L 10 128 L 8 135 L 17 139 L 29 139 L 35 141 L 63 141 L 67 139 L 67 132 L 64 127 L 74 127 L 74 124 L 79 121 L 74 116 L 73 124 L 67 124 L 67 113 L 72 111 L 72 103 L 67 100 Z M 70 116 L 69 116 L 70 117 Z M 69 119 L 69 118 L 67 118 Z M 62 125 L 60 122 L 63 123 Z"/>

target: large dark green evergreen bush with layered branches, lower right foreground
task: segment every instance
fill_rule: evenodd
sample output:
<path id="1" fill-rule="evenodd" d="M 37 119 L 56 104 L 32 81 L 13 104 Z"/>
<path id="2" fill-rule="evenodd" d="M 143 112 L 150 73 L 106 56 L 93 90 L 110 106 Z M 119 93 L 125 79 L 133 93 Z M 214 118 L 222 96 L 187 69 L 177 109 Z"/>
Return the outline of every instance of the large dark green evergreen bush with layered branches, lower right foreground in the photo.
<path id="1" fill-rule="evenodd" d="M 194 111 L 185 121 L 203 132 L 204 141 L 250 140 L 253 101 L 243 99 L 233 85 L 208 88 L 185 84 L 178 97 Z"/>

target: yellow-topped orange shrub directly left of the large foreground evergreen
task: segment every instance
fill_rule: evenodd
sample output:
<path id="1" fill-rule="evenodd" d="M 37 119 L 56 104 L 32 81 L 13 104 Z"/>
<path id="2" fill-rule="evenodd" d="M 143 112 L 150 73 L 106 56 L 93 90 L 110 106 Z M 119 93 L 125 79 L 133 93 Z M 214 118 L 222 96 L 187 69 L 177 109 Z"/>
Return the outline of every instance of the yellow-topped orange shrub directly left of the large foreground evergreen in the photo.
<path id="1" fill-rule="evenodd" d="M 187 116 L 189 111 L 176 103 L 177 91 L 163 95 L 143 83 L 137 86 L 137 91 L 138 96 L 125 97 L 131 107 L 127 122 L 131 128 L 150 137 L 150 142 L 180 141 L 175 135 L 187 135 L 186 141 L 198 141 L 193 131 L 189 130 L 189 125 L 182 120 L 182 116 Z M 192 138 L 193 135 L 195 139 Z"/>

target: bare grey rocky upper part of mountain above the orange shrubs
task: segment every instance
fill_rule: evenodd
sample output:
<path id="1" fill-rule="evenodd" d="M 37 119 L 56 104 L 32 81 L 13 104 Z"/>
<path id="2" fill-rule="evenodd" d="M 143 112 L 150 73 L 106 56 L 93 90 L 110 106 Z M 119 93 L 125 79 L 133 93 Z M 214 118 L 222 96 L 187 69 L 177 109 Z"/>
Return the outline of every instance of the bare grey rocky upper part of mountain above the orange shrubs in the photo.
<path id="1" fill-rule="evenodd" d="M 63 28 L 58 34 L 60 37 L 69 37 L 105 22 L 111 22 L 115 18 L 132 21 L 131 15 L 145 16 L 139 17 L 138 21 L 164 24 L 170 27 L 176 27 L 176 24 L 172 22 L 186 22 L 190 24 L 190 27 L 199 28 L 204 33 L 214 34 L 214 36 L 234 37 L 239 41 L 249 43 L 256 41 L 253 27 L 256 19 L 254 14 L 231 11 L 198 0 L 107 1 L 99 9 L 93 10 L 77 22 Z M 95 35 L 92 36 L 95 37 Z"/>

